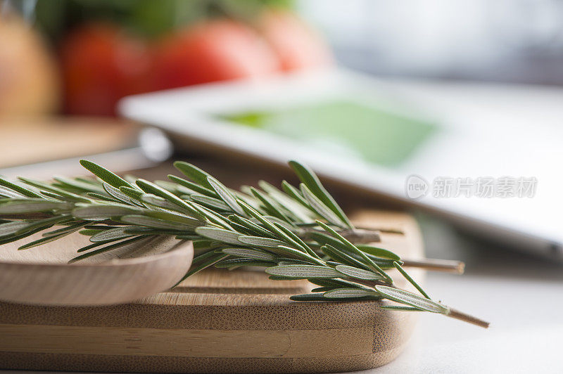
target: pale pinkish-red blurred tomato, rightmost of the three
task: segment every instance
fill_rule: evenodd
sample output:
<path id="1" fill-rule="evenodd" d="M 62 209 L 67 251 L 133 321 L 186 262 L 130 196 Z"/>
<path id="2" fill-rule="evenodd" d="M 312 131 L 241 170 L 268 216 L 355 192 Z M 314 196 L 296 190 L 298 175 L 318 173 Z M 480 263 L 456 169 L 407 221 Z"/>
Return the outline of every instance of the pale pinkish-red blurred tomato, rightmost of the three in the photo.
<path id="1" fill-rule="evenodd" d="M 281 70 L 331 65 L 329 47 L 319 34 L 297 15 L 281 9 L 262 13 L 258 29 L 279 59 Z"/>

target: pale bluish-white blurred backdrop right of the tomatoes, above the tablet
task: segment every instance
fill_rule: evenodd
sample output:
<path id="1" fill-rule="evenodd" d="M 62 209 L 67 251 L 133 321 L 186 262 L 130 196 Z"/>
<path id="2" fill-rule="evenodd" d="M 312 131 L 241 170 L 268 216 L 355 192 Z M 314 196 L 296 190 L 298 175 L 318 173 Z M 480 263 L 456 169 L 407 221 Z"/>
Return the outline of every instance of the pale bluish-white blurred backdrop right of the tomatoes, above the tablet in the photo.
<path id="1" fill-rule="evenodd" d="M 302 1 L 343 65 L 377 75 L 563 84 L 559 0 Z"/>

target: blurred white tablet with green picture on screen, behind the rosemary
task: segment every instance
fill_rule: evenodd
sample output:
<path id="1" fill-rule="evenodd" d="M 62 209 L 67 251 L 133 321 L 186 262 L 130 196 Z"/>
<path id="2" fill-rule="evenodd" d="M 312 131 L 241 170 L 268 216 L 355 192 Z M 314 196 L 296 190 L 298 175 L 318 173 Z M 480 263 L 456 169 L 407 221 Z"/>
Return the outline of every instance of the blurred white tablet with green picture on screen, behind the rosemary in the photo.
<path id="1" fill-rule="evenodd" d="M 125 117 L 441 214 L 563 259 L 563 91 L 343 69 L 129 96 Z M 178 141 L 177 141 L 178 143 Z"/>

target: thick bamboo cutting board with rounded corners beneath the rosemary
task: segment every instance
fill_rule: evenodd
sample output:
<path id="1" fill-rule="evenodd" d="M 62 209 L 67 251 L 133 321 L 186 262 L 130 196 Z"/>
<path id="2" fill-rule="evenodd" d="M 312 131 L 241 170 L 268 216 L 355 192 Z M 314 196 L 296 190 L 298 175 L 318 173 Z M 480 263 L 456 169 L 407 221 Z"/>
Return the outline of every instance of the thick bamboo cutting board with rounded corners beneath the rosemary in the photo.
<path id="1" fill-rule="evenodd" d="M 358 226 L 400 228 L 379 246 L 422 257 L 415 221 L 362 212 Z M 424 273 L 411 269 L 421 281 Z M 393 274 L 396 275 L 396 274 Z M 408 288 L 405 283 L 400 287 Z M 0 367 L 165 373 L 319 373 L 384 365 L 416 313 L 380 302 L 291 302 L 307 281 L 262 271 L 206 271 L 169 292 L 111 307 L 0 303 Z"/>

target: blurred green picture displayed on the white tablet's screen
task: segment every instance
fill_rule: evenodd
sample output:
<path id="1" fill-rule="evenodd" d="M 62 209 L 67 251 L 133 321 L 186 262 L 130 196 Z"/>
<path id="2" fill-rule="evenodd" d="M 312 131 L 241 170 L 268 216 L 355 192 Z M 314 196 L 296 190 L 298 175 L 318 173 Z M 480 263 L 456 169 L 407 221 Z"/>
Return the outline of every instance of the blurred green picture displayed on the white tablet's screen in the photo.
<path id="1" fill-rule="evenodd" d="M 248 127 L 303 141 L 310 146 L 398 167 L 434 134 L 436 124 L 354 101 L 330 101 L 273 111 L 220 115 Z"/>

